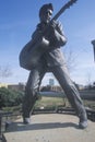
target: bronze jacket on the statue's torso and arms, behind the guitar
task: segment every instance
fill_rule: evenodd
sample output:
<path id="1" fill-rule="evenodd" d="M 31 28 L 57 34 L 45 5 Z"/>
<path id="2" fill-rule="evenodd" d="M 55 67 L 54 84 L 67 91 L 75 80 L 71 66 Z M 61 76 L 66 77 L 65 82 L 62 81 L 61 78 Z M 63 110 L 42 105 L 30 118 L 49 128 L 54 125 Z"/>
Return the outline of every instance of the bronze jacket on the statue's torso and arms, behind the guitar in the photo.
<path id="1" fill-rule="evenodd" d="M 35 40 L 37 36 L 43 35 L 44 28 L 45 24 L 39 23 L 37 25 L 37 28 L 32 35 L 33 40 Z M 56 23 L 55 28 L 49 28 L 49 33 L 46 33 L 44 36 L 49 40 L 50 44 L 48 49 L 40 58 L 41 63 L 46 63 L 48 67 L 63 66 L 66 62 L 60 47 L 66 45 L 67 38 L 63 34 L 62 27 L 59 26 L 59 23 Z"/>

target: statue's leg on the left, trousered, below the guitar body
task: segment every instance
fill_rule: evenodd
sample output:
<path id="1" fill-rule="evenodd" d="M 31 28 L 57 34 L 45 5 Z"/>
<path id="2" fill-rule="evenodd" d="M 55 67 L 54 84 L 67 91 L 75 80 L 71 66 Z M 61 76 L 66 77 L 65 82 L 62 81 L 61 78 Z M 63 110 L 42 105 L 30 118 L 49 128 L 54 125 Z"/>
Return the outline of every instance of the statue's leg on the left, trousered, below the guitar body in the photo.
<path id="1" fill-rule="evenodd" d="M 29 122 L 33 107 L 35 105 L 35 102 L 37 100 L 37 91 L 39 88 L 40 81 L 45 74 L 41 69 L 43 68 L 33 69 L 27 80 L 25 96 L 22 106 L 24 123 Z"/>

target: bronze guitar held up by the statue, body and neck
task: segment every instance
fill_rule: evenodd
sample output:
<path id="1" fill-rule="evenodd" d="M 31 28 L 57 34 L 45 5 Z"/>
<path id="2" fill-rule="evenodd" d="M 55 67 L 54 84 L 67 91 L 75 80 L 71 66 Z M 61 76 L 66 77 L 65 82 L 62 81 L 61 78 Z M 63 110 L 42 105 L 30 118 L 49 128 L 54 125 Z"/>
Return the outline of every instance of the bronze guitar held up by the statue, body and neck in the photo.
<path id="1" fill-rule="evenodd" d="M 67 9 L 69 9 L 73 3 L 78 0 L 70 0 L 67 2 L 59 12 L 51 19 L 49 25 L 52 21 L 56 21 Z M 45 28 L 44 34 L 48 32 L 49 25 Z M 44 37 L 37 37 L 35 42 L 32 39 L 23 47 L 20 52 L 20 66 L 26 70 L 32 70 L 33 68 L 37 67 L 37 63 L 48 48 L 49 42 L 46 40 Z"/>

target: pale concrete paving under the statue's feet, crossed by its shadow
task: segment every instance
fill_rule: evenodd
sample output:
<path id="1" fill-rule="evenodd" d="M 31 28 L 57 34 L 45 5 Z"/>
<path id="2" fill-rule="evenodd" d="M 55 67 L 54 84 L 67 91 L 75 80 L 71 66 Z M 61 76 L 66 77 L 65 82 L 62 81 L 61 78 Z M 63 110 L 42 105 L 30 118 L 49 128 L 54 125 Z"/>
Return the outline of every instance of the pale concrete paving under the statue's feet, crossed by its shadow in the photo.
<path id="1" fill-rule="evenodd" d="M 85 130 L 79 129 L 78 122 L 72 115 L 34 115 L 31 125 L 16 120 L 4 137 L 7 142 L 95 142 L 95 122 L 88 120 Z"/>

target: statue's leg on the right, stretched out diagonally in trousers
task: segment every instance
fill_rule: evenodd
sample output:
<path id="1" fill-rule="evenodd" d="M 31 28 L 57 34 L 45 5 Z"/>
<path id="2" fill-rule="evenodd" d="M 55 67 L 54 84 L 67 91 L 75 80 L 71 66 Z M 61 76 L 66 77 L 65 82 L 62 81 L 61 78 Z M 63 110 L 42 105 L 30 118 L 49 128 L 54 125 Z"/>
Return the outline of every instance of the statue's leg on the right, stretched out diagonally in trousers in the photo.
<path id="1" fill-rule="evenodd" d="M 86 128 L 87 127 L 87 116 L 86 110 L 83 105 L 83 102 L 80 97 L 79 91 L 76 90 L 75 85 L 71 81 L 68 70 L 66 67 L 57 67 L 52 69 L 52 72 L 57 80 L 59 81 L 59 84 L 63 88 L 70 104 L 75 109 L 76 115 L 80 118 L 80 127 Z"/>

